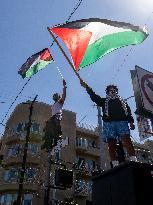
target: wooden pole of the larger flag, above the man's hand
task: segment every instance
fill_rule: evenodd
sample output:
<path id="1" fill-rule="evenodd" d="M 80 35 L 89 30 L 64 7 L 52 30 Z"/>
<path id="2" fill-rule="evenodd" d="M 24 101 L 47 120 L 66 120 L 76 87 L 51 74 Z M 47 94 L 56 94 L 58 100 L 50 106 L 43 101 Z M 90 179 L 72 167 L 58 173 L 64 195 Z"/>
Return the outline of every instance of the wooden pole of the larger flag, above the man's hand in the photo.
<path id="1" fill-rule="evenodd" d="M 68 61 L 68 63 L 70 64 L 71 68 L 73 69 L 73 71 L 75 72 L 75 74 L 77 75 L 77 77 L 79 78 L 79 80 L 81 80 L 79 73 L 75 70 L 74 65 L 72 64 L 72 62 L 70 61 L 70 59 L 68 58 L 68 56 L 66 55 L 65 51 L 63 50 L 63 48 L 61 47 L 61 45 L 59 44 L 59 42 L 57 41 L 57 39 L 55 38 L 53 32 L 49 29 L 49 27 L 47 27 L 50 35 L 53 37 L 54 41 L 56 42 L 57 46 L 59 47 L 59 49 L 61 50 L 61 52 L 63 53 L 63 55 L 65 56 L 66 60 Z"/>

